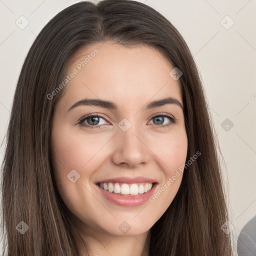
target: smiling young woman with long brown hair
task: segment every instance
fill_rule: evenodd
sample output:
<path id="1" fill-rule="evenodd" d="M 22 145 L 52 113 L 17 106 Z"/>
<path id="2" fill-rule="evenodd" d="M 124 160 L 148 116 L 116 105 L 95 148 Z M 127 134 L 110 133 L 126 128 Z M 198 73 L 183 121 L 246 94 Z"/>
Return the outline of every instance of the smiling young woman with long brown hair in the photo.
<path id="1" fill-rule="evenodd" d="M 212 126 L 166 18 L 128 0 L 65 8 L 36 37 L 14 95 L 8 255 L 231 255 Z"/>

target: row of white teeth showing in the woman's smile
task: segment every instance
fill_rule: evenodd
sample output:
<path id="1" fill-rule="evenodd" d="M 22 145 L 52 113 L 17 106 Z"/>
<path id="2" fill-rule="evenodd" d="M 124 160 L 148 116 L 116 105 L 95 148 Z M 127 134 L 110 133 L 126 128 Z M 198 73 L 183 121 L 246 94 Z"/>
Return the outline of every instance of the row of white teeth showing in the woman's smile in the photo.
<path id="1" fill-rule="evenodd" d="M 99 183 L 99 186 L 101 188 L 103 188 L 104 190 L 108 190 L 108 192 L 114 192 L 114 193 L 121 193 L 121 194 L 132 194 L 132 195 L 136 195 L 136 194 L 142 194 L 142 193 L 146 193 L 147 191 L 149 191 L 152 187 L 152 183 L 145 183 L 143 184 L 126 184 L 126 183 L 121 183 L 121 186 L 119 183 Z"/>

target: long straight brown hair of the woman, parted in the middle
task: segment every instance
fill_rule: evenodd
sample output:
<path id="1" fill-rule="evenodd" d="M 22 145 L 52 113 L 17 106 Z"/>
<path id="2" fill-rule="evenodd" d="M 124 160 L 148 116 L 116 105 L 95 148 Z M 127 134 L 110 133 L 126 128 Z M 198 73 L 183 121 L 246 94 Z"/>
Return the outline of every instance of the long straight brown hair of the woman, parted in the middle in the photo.
<path id="1" fill-rule="evenodd" d="M 151 227 L 152 256 L 230 256 L 230 234 L 221 168 L 201 79 L 176 28 L 146 4 L 132 0 L 82 1 L 55 15 L 40 31 L 23 63 L 11 109 L 2 164 L 2 226 L 9 256 L 77 255 L 76 230 L 61 200 L 50 155 L 54 103 L 49 99 L 64 77 L 67 59 L 78 48 L 115 41 L 148 45 L 173 67 L 184 102 L 187 160 L 178 192 Z M 66 85 L 68 86 L 68 85 Z M 21 234 L 17 225 L 29 229 Z M 77 234 L 78 235 L 78 234 Z"/>

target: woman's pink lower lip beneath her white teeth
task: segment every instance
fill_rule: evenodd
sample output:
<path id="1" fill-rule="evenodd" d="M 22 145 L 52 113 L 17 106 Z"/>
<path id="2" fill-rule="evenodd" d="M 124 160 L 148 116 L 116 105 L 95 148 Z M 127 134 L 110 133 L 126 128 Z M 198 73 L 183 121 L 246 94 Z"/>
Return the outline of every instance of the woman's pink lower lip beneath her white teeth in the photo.
<path id="1" fill-rule="evenodd" d="M 109 201 L 121 206 L 134 207 L 148 201 L 149 197 L 153 195 L 156 185 L 157 183 L 153 183 L 151 189 L 148 192 L 138 195 L 119 195 L 113 192 L 110 193 L 107 190 L 99 187 L 98 185 L 96 186 L 100 190 L 101 194 L 104 195 Z"/>

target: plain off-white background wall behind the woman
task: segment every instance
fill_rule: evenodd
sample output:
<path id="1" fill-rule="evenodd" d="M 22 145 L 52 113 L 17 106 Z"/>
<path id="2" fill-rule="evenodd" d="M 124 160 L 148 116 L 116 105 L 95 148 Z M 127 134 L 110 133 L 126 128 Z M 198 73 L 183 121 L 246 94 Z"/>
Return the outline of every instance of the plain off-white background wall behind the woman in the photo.
<path id="1" fill-rule="evenodd" d="M 75 2 L 0 0 L 0 141 L 29 47 L 51 17 Z M 235 247 L 239 231 L 256 214 L 256 0 L 141 2 L 159 11 L 178 29 L 201 73 L 227 167 L 224 178 Z M 25 24 L 22 15 L 29 21 L 23 29 L 15 23 Z M 223 123 L 226 118 L 233 127 Z M 0 147 L 0 160 L 3 151 L 4 145 Z"/>

